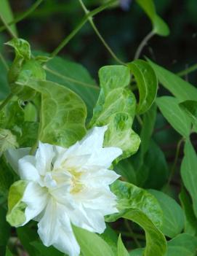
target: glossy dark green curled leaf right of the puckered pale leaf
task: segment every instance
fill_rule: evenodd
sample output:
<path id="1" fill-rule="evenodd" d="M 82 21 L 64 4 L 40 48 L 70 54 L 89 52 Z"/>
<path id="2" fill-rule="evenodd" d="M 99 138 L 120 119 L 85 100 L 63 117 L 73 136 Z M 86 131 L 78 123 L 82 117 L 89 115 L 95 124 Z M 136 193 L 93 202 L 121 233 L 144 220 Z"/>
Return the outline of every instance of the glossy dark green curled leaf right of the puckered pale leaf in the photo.
<path id="1" fill-rule="evenodd" d="M 158 82 L 152 67 L 146 61 L 136 60 L 128 64 L 139 88 L 140 101 L 137 113 L 146 112 L 156 99 Z"/>

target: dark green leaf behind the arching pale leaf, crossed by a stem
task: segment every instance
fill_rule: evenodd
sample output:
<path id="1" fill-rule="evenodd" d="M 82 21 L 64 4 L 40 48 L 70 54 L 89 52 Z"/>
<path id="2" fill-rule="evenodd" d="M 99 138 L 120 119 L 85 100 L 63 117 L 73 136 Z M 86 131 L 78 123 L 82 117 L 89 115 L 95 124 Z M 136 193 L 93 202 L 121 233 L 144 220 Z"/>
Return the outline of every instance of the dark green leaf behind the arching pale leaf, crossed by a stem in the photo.
<path id="1" fill-rule="evenodd" d="M 44 68 L 47 79 L 73 90 L 87 104 L 88 118 L 92 117 L 92 109 L 96 104 L 100 88 L 89 75 L 87 69 L 79 63 L 55 57 Z"/>

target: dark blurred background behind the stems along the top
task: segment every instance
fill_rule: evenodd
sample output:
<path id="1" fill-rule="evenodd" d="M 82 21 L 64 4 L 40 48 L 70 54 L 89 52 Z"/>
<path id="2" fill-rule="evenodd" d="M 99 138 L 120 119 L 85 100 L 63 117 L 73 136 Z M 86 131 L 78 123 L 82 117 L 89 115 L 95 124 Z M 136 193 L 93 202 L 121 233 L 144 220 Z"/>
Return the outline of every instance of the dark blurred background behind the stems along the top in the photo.
<path id="1" fill-rule="evenodd" d="M 15 16 L 31 7 L 33 0 L 11 0 Z M 89 9 L 98 7 L 103 0 L 84 1 Z M 170 28 L 167 37 L 154 36 L 143 50 L 161 66 L 180 71 L 196 63 L 197 55 L 197 1 L 155 0 L 158 14 Z M 28 39 L 36 50 L 52 52 L 84 16 L 77 0 L 45 0 L 28 18 L 17 23 L 19 36 Z M 95 23 L 113 51 L 123 61 L 132 61 L 137 46 L 151 29 L 150 20 L 132 1 L 128 11 L 111 8 L 96 15 Z M 100 66 L 116 63 L 87 23 L 60 53 L 84 64 L 97 77 Z M 142 57 L 142 56 L 141 56 Z M 189 75 L 195 83 L 197 74 Z"/>

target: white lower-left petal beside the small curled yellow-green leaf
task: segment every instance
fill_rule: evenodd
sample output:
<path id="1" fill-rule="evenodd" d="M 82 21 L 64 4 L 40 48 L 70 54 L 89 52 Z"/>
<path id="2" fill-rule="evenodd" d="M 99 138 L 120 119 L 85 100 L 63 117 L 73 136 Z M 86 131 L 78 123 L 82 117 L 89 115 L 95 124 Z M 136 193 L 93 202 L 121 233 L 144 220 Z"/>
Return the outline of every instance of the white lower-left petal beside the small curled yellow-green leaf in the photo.
<path id="1" fill-rule="evenodd" d="M 40 187 L 35 182 L 30 182 L 25 188 L 22 201 L 27 205 L 25 209 L 25 225 L 33 218 L 37 217 L 44 210 L 47 205 L 47 190 Z"/>

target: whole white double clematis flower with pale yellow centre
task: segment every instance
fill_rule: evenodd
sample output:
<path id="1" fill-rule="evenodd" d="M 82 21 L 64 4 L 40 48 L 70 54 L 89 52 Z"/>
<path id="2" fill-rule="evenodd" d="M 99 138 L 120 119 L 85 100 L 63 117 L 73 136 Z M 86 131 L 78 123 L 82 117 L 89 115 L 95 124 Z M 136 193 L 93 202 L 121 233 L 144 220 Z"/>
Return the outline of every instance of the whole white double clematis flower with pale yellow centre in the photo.
<path id="1" fill-rule="evenodd" d="M 119 176 L 108 168 L 122 151 L 102 147 L 106 130 L 107 126 L 95 127 L 69 148 L 40 142 L 34 156 L 28 155 L 29 149 L 7 152 L 20 179 L 28 182 L 21 199 L 25 220 L 20 225 L 38 221 L 45 246 L 78 256 L 80 248 L 72 224 L 102 233 L 104 216 L 118 212 L 116 195 L 109 185 Z"/>

